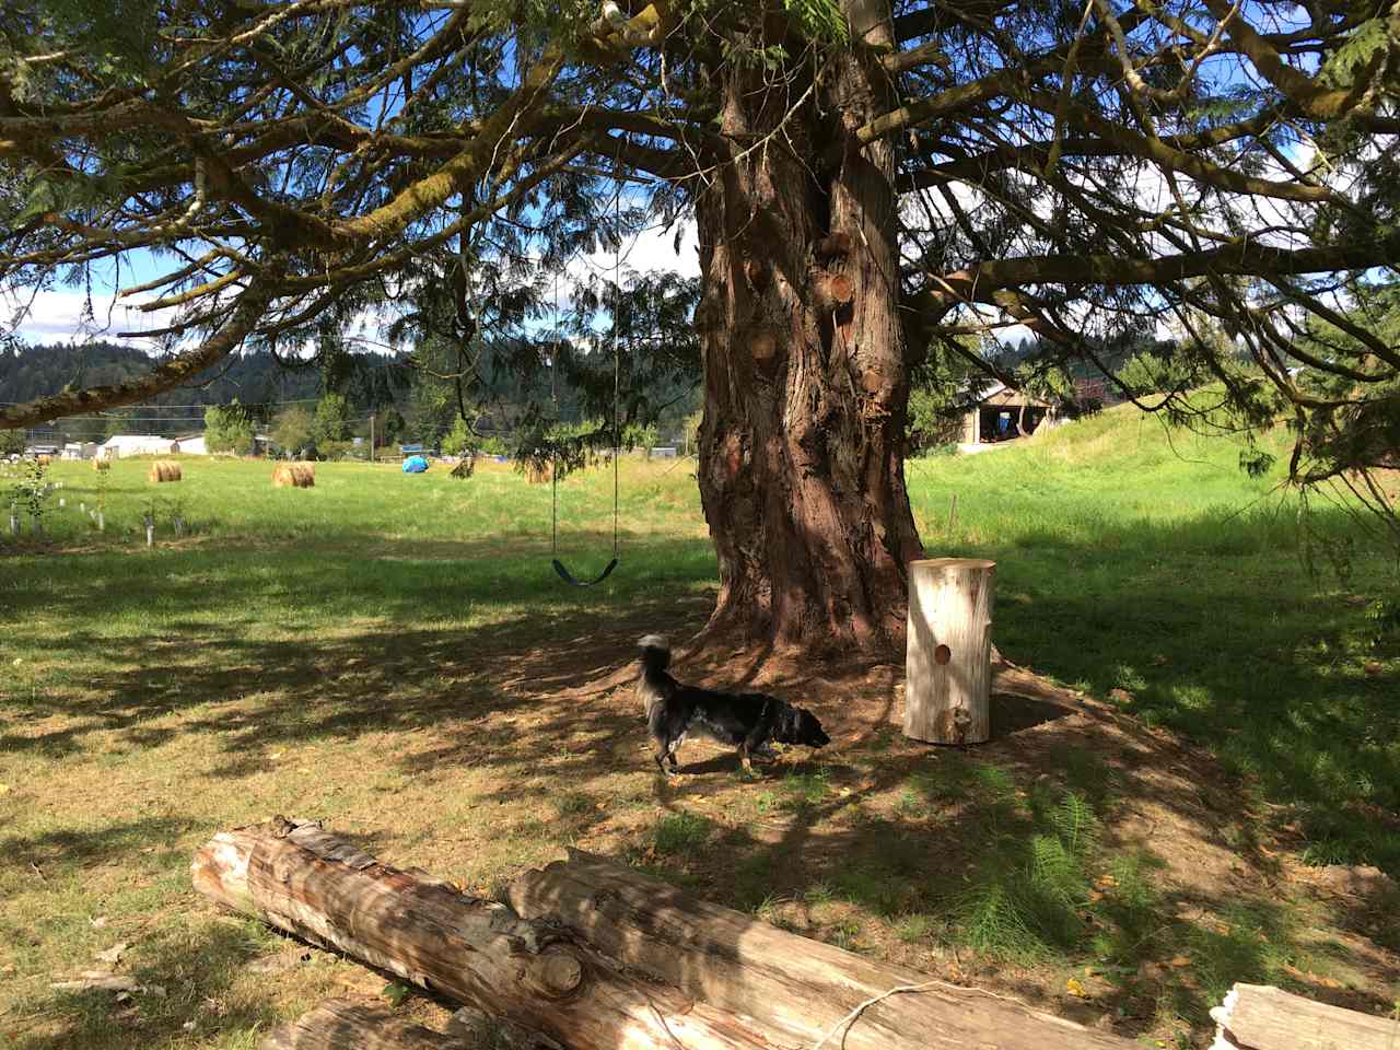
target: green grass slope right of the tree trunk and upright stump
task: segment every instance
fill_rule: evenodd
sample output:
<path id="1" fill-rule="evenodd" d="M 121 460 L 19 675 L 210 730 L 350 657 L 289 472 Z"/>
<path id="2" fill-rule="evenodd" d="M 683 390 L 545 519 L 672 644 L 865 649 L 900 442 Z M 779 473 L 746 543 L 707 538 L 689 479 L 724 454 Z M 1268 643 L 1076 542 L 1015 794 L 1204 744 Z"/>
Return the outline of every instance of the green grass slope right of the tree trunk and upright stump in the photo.
<path id="1" fill-rule="evenodd" d="M 1124 407 L 917 462 L 910 493 L 930 552 L 998 563 L 1002 651 L 1201 741 L 1299 808 L 1319 861 L 1400 874 L 1400 832 L 1364 816 L 1400 811 L 1400 633 L 1373 644 L 1366 616 L 1397 566 L 1333 511 L 1312 525 L 1350 574 L 1309 575 L 1281 468 L 1249 479 L 1238 448 Z"/>

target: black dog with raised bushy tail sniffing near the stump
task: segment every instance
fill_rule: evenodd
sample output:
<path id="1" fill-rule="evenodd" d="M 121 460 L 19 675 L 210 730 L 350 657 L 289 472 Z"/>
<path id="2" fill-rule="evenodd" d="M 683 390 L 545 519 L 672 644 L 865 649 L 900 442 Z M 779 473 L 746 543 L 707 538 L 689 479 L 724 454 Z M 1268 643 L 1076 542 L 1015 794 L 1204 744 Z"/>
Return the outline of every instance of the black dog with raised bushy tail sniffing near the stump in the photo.
<path id="1" fill-rule="evenodd" d="M 647 728 L 657 745 L 655 760 L 662 773 L 680 769 L 676 750 L 686 734 L 699 732 L 739 749 L 743 769 L 752 770 L 750 755 L 771 755 L 771 745 L 804 743 L 825 748 L 832 738 L 816 715 L 802 707 L 763 693 L 717 693 L 683 686 L 666 673 L 671 645 L 659 634 L 648 634 L 641 645 L 641 679 L 637 693 L 647 708 Z"/>

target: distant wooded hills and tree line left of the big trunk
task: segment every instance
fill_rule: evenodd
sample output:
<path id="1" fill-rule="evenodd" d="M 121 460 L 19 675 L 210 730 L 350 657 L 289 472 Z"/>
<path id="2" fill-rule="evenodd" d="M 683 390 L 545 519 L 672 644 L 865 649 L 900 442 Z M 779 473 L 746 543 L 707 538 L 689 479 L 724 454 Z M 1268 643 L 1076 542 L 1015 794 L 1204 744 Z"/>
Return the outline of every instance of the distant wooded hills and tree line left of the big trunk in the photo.
<path id="1" fill-rule="evenodd" d="M 251 350 L 157 395 L 148 403 L 59 420 L 45 431 L 52 441 L 104 441 L 115 434 L 179 437 L 203 431 L 211 451 L 245 454 L 255 434 L 290 452 L 336 454 L 354 438 L 421 442 L 444 451 L 469 448 L 510 452 L 512 440 L 545 424 L 578 427 L 596 421 L 598 398 L 582 386 L 594 377 L 612 385 L 612 364 L 601 358 L 588 371 L 553 368 L 524 374 L 508 364 L 518 349 L 476 347 L 470 398 L 461 396 L 456 347 L 426 340 L 412 353 L 392 354 L 322 347 L 315 363 Z M 27 402 L 66 389 L 119 384 L 150 371 L 157 358 L 112 342 L 0 346 L 0 403 Z M 606 365 L 606 367 L 603 367 Z M 606 377 L 603 377 L 606 372 Z M 582 377 L 582 378 L 581 378 Z M 598 378 L 598 382 L 602 382 Z M 699 409 L 697 377 L 672 370 L 629 379 L 626 398 L 662 406 L 650 435 L 679 435 Z M 480 389 L 493 393 L 480 396 Z M 529 406 L 546 403 L 549 419 Z M 623 406 L 623 420 L 629 413 Z M 640 434 L 640 431 L 637 431 Z M 645 437 L 645 435 L 643 435 Z M 20 442 L 15 438 L 15 444 Z"/>

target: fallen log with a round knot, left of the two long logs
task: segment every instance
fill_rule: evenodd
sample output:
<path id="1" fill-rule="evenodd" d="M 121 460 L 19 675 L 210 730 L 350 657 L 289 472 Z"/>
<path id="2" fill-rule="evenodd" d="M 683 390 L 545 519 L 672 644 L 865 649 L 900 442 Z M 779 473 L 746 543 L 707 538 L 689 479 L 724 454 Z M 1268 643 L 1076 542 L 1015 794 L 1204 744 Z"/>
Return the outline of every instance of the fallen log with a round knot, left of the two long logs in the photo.
<path id="1" fill-rule="evenodd" d="M 220 904 L 575 1050 L 771 1046 L 742 1019 L 637 980 L 566 931 L 381 864 L 312 822 L 221 832 L 190 868 L 195 888 Z"/>

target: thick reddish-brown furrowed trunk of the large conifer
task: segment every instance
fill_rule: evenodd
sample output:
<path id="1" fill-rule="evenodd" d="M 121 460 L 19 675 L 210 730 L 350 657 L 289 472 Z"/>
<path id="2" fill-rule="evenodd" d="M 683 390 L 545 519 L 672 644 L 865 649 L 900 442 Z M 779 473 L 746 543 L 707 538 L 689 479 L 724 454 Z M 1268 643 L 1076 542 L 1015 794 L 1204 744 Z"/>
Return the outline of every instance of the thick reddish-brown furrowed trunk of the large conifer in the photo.
<path id="1" fill-rule="evenodd" d="M 843 49 L 818 83 L 801 63 L 777 85 L 745 63 L 720 74 L 720 130 L 749 146 L 696 207 L 699 479 L 720 559 L 711 630 L 879 651 L 903 638 L 923 550 L 904 489 L 893 151 L 853 139 L 893 102 L 876 57 L 892 29 L 871 0 L 843 8 L 874 46 Z"/>

